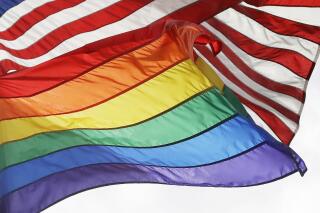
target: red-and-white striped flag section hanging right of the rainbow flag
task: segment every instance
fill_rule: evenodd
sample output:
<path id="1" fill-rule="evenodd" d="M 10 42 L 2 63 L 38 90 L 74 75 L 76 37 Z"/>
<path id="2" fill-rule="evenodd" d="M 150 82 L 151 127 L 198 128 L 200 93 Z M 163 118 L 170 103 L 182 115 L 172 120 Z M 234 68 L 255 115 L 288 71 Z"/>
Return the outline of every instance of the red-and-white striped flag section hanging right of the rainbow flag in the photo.
<path id="1" fill-rule="evenodd" d="M 317 61 L 320 28 L 308 19 L 298 22 L 299 17 L 286 17 L 295 9 L 285 7 L 286 2 L 263 3 L 280 5 L 269 7 L 240 3 L 203 22 L 224 45 L 217 58 L 206 48 L 199 52 L 255 122 L 289 144 L 298 129 L 307 82 Z M 283 7 L 281 14 L 273 14 L 272 7 Z M 316 14 L 313 8 L 309 10 Z"/>

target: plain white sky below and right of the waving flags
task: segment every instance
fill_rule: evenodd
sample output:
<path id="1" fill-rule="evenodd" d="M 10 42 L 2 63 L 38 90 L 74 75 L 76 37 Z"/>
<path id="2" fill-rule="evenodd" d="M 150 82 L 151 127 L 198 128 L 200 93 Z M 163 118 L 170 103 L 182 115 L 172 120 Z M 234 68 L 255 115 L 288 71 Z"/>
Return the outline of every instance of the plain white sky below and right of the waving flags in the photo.
<path id="1" fill-rule="evenodd" d="M 44 213 L 317 213 L 320 212 L 319 139 L 320 60 L 309 82 L 300 130 L 291 145 L 307 164 L 304 177 L 296 173 L 247 188 L 113 185 L 74 195 Z"/>

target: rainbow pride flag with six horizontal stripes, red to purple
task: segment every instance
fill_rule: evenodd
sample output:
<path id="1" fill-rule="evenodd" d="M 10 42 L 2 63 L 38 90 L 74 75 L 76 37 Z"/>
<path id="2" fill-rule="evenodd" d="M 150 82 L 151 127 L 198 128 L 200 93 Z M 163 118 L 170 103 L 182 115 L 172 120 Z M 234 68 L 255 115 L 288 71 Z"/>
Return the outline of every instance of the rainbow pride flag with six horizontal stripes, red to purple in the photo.
<path id="1" fill-rule="evenodd" d="M 303 175 L 301 158 L 253 122 L 194 44 L 220 47 L 201 27 L 169 21 L 2 79 L 1 212 L 39 212 L 110 184 L 242 187 Z"/>

